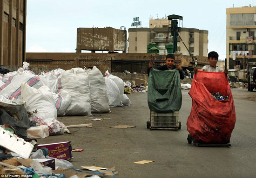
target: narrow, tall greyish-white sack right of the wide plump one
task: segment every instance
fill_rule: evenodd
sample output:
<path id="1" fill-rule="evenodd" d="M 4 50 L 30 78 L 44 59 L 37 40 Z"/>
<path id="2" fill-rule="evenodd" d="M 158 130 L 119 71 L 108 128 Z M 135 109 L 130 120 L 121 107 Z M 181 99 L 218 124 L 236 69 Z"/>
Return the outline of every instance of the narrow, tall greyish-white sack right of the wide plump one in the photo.
<path id="1" fill-rule="evenodd" d="M 93 70 L 88 71 L 88 74 L 91 86 L 91 112 L 109 113 L 108 91 L 101 71 L 94 66 Z"/>

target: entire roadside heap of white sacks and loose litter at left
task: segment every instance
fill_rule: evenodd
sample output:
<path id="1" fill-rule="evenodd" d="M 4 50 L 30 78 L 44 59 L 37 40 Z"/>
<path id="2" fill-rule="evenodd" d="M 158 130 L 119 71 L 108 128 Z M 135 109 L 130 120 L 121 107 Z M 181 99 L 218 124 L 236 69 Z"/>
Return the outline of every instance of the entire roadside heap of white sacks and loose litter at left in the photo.
<path id="1" fill-rule="evenodd" d="M 74 158 L 73 151 L 82 149 L 73 150 L 71 141 L 38 145 L 36 139 L 70 133 L 68 128 L 93 127 L 92 123 L 65 126 L 58 116 L 91 116 L 110 113 L 110 107 L 131 106 L 124 94 L 126 83 L 108 71 L 104 77 L 96 67 L 56 69 L 35 75 L 28 66 L 24 62 L 17 71 L 0 76 L 0 174 L 34 178 L 99 174 L 114 177 L 118 173 L 115 167 L 75 169 L 68 160 Z M 79 172 L 65 171 L 71 168 Z"/>

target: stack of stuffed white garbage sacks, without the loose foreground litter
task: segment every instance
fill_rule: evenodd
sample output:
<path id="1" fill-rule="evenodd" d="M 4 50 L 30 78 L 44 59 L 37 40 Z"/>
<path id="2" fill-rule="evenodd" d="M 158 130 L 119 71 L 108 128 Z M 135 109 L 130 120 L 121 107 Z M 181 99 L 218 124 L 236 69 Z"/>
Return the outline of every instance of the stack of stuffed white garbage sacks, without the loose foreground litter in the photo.
<path id="1" fill-rule="evenodd" d="M 122 79 L 108 71 L 104 77 L 95 66 L 92 70 L 56 69 L 41 75 L 28 66 L 24 62 L 17 71 L 0 74 L 0 102 L 24 106 L 30 121 L 28 138 L 63 134 L 64 126 L 57 116 L 90 116 L 109 113 L 110 107 L 131 105 L 123 94 Z"/>

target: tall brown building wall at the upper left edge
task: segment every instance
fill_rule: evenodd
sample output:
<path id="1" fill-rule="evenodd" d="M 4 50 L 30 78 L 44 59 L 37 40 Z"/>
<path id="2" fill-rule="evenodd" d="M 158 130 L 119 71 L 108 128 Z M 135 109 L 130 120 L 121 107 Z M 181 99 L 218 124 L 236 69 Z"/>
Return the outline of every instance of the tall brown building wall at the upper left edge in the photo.
<path id="1" fill-rule="evenodd" d="M 0 0 L 0 65 L 22 65 L 26 54 L 27 0 Z"/>

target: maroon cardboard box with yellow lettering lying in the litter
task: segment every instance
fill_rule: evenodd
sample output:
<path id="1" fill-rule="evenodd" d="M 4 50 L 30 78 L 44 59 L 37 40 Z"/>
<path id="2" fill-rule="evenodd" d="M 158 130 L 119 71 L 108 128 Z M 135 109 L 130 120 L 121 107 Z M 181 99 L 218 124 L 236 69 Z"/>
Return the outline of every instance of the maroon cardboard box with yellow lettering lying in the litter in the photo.
<path id="1" fill-rule="evenodd" d="M 57 159 L 72 158 L 71 141 L 38 145 L 37 149 L 40 149 L 40 148 L 48 149 L 49 156 L 53 158 L 57 158 Z"/>

